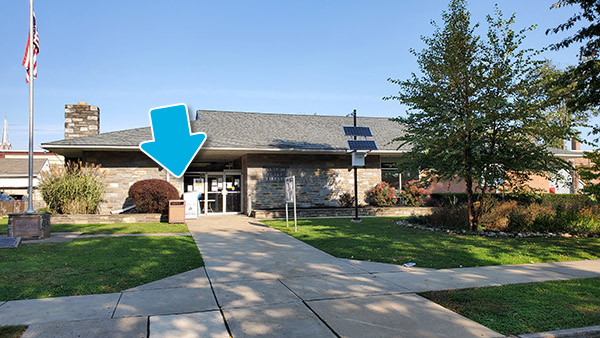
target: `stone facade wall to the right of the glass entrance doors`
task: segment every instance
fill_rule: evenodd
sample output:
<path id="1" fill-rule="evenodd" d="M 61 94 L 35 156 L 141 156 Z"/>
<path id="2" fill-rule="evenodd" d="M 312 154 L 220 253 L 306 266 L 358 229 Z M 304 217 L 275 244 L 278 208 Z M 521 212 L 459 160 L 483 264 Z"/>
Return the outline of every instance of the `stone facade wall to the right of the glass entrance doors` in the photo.
<path id="1" fill-rule="evenodd" d="M 298 207 L 337 207 L 339 195 L 354 194 L 354 172 L 348 171 L 350 166 L 348 155 L 245 155 L 244 210 L 250 213 L 283 207 L 286 176 L 296 176 Z M 380 181 L 379 156 L 367 156 L 366 166 L 358 169 L 359 203 L 366 203 L 365 192 Z"/>

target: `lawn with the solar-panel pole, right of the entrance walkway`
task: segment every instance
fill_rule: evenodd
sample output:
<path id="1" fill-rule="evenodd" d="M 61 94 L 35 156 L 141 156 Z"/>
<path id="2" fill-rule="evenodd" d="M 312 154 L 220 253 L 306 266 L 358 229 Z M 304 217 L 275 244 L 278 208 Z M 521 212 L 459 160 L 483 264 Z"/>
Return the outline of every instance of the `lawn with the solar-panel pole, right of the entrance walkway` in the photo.
<path id="1" fill-rule="evenodd" d="M 285 220 L 264 223 L 336 257 L 417 267 L 456 268 L 600 258 L 598 238 L 488 238 L 398 226 L 398 218 L 298 220 L 298 232 Z"/>

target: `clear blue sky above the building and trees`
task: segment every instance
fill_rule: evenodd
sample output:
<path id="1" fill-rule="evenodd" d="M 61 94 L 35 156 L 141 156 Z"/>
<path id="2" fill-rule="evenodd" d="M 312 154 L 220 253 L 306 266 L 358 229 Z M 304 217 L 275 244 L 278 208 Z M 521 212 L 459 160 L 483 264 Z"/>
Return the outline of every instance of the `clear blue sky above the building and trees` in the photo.
<path id="1" fill-rule="evenodd" d="M 498 4 L 517 14 L 515 28 L 537 24 L 526 46 L 542 48 L 561 37 L 546 36 L 546 28 L 577 9 L 550 10 L 552 2 Z M 494 4 L 471 0 L 472 21 L 484 23 Z M 64 105 L 78 101 L 100 107 L 101 132 L 148 126 L 148 109 L 175 103 L 402 115 L 404 107 L 381 99 L 397 91 L 386 79 L 418 71 L 409 49 L 424 47 L 420 36 L 431 34 L 430 21 L 440 22 L 446 7 L 446 0 L 38 0 L 35 142 L 62 139 Z M 0 114 L 8 114 L 13 149 L 27 148 L 27 32 L 28 1 L 2 1 Z M 577 48 L 544 56 L 565 67 L 577 62 Z"/>

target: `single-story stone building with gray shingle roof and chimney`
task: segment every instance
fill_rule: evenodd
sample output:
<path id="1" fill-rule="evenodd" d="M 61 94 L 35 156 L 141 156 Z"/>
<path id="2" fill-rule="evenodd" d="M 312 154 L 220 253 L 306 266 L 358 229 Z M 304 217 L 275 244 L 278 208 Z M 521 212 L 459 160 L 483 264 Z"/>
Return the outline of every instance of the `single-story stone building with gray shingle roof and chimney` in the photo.
<path id="1" fill-rule="evenodd" d="M 152 139 L 150 127 L 99 134 L 99 113 L 81 102 L 66 105 L 65 139 L 42 147 L 67 160 L 101 165 L 107 183 L 101 213 L 129 205 L 129 187 L 149 178 L 170 181 L 180 193 L 202 192 L 203 213 L 282 208 L 284 178 L 291 175 L 301 208 L 338 206 L 339 195 L 353 193 L 348 138 L 342 132 L 342 126 L 352 125 L 351 117 L 199 110 L 192 132 L 205 132 L 207 140 L 186 173 L 175 178 L 139 150 L 141 142 Z M 358 197 L 364 203 L 365 192 L 382 177 L 398 180 L 392 164 L 407 149 L 392 142 L 402 133 L 396 122 L 359 117 L 358 125 L 371 127 L 379 146 L 358 170 Z"/>

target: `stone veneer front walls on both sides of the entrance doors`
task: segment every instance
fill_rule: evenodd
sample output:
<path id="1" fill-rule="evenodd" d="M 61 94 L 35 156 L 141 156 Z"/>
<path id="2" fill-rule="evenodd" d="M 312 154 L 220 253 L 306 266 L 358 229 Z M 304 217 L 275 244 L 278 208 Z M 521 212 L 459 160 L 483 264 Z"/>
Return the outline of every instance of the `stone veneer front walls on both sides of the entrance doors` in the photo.
<path id="1" fill-rule="evenodd" d="M 166 170 L 141 152 L 86 151 L 82 160 L 99 164 L 104 174 L 106 192 L 100 204 L 101 214 L 131 205 L 127 198 L 129 187 L 140 180 L 168 180 L 183 193 L 183 177 L 167 177 Z M 366 191 L 381 181 L 379 160 L 379 156 L 367 156 L 366 167 L 359 168 L 358 197 L 361 204 L 366 204 Z M 339 195 L 354 193 L 354 173 L 348 171 L 350 156 L 249 154 L 242 157 L 241 163 L 243 210 L 246 213 L 283 207 L 285 176 L 296 176 L 300 208 L 339 206 Z"/>

